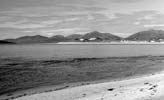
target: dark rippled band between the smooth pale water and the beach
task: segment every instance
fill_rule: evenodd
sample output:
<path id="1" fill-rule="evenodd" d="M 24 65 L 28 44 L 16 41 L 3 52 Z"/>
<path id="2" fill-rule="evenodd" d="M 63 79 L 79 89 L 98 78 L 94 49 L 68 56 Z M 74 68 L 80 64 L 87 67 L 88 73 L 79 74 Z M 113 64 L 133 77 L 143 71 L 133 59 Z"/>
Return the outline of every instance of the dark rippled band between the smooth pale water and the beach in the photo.
<path id="1" fill-rule="evenodd" d="M 0 95 L 40 86 L 114 80 L 164 70 L 164 56 L 75 58 L 67 60 L 0 59 Z"/>

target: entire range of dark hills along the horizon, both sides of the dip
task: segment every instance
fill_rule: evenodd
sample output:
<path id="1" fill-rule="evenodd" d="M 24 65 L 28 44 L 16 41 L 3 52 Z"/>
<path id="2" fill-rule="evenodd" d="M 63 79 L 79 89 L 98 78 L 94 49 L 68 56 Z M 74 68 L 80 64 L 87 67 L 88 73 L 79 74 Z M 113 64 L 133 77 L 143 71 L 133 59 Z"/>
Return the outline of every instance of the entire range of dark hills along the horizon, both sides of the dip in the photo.
<path id="1" fill-rule="evenodd" d="M 89 32 L 86 34 L 71 34 L 68 36 L 55 35 L 46 37 L 42 35 L 23 36 L 16 39 L 5 39 L 3 41 L 13 43 L 58 43 L 58 42 L 111 42 L 111 41 L 160 41 L 164 40 L 163 30 L 145 30 L 130 35 L 127 38 L 122 38 L 111 33 L 101 33 L 98 31 Z"/>

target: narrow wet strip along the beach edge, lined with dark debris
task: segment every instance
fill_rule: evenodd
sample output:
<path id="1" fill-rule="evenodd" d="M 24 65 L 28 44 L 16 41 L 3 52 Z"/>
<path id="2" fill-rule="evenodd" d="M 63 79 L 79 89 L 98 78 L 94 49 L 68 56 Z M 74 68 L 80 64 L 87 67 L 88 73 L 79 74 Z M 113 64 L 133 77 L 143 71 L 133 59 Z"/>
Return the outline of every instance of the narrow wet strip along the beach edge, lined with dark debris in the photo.
<path id="1" fill-rule="evenodd" d="M 61 91 L 61 90 L 71 89 L 71 88 L 76 88 L 76 87 L 81 87 L 81 86 L 134 80 L 134 79 L 139 79 L 139 78 L 151 77 L 151 76 L 162 74 L 162 73 L 164 73 L 164 71 L 143 74 L 143 75 L 136 75 L 136 76 L 126 77 L 126 78 L 117 78 L 114 80 L 102 79 L 102 80 L 96 80 L 96 81 L 75 82 L 75 83 L 68 83 L 68 84 L 66 83 L 62 85 L 41 86 L 41 87 L 35 87 L 31 89 L 25 89 L 22 91 L 14 92 L 12 96 L 7 96 L 6 94 L 1 95 L 0 100 L 13 100 L 13 99 L 19 100 L 19 98 L 26 97 L 26 96 L 32 96 L 32 95 L 37 95 L 37 94 L 42 94 L 42 93 L 50 93 L 50 92 Z"/>

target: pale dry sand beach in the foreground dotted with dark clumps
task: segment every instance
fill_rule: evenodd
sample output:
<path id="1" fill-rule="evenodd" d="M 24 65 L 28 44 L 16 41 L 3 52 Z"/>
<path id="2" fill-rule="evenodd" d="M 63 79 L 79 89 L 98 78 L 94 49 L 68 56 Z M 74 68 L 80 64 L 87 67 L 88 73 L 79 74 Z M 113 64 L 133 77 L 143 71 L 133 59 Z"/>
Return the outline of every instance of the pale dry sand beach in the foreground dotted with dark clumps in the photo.
<path id="1" fill-rule="evenodd" d="M 122 81 L 90 84 L 14 100 L 163 100 L 164 72 Z"/>

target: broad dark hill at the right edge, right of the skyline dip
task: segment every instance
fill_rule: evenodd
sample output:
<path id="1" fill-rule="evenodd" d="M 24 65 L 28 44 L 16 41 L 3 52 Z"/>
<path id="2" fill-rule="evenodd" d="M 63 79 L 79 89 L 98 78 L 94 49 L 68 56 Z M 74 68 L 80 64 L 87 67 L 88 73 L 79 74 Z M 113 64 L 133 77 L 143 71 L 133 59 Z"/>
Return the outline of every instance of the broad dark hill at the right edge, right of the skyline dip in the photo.
<path id="1" fill-rule="evenodd" d="M 126 40 L 133 41 L 158 41 L 159 39 L 164 39 L 164 31 L 162 30 L 141 31 L 126 38 Z"/>

